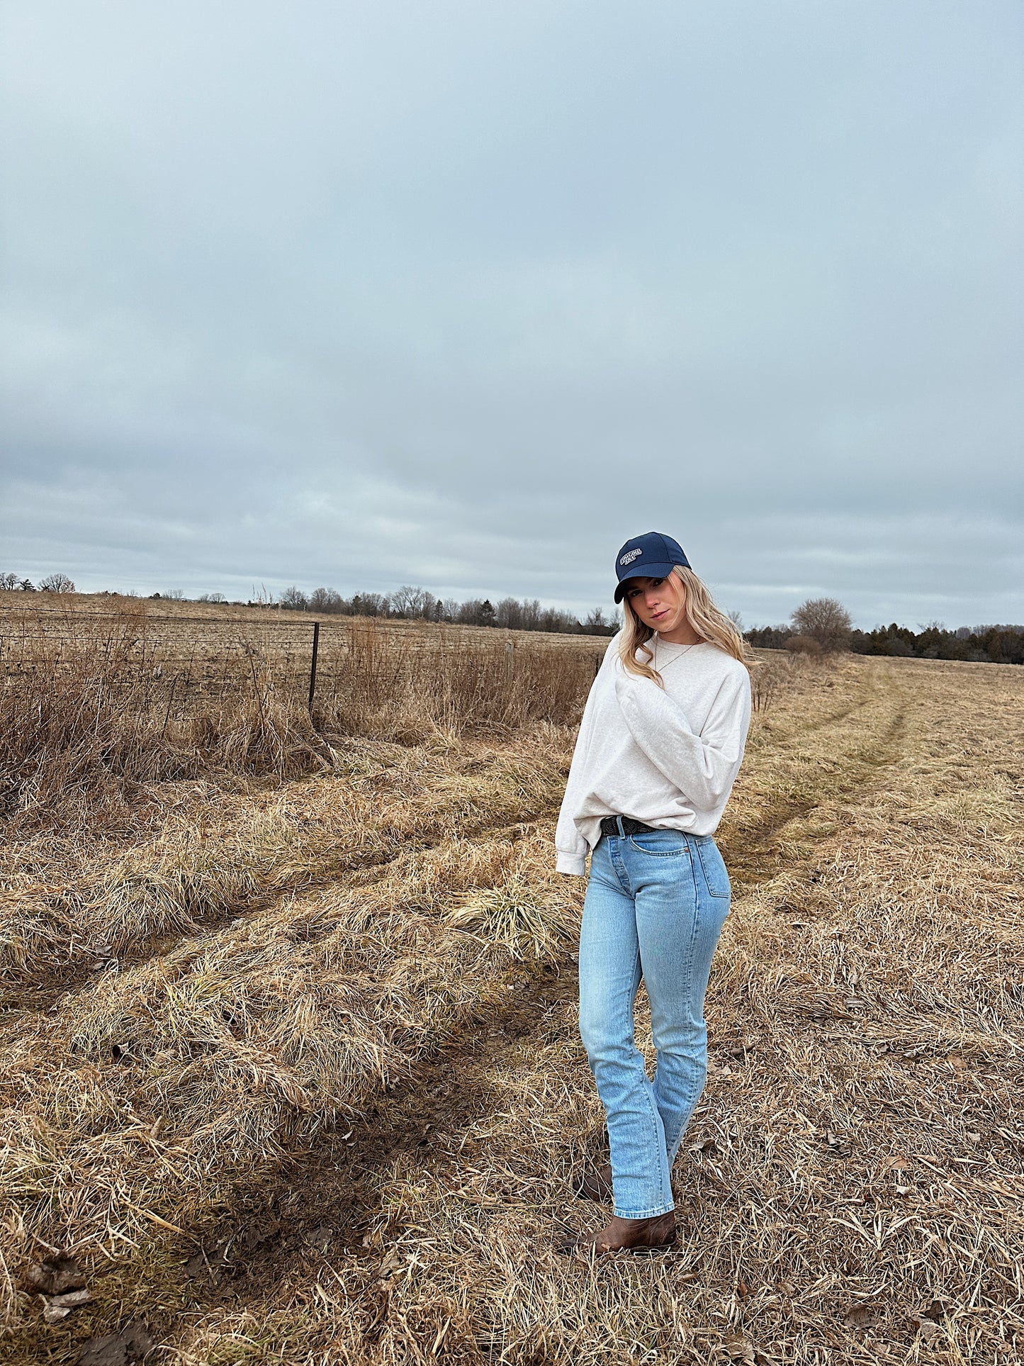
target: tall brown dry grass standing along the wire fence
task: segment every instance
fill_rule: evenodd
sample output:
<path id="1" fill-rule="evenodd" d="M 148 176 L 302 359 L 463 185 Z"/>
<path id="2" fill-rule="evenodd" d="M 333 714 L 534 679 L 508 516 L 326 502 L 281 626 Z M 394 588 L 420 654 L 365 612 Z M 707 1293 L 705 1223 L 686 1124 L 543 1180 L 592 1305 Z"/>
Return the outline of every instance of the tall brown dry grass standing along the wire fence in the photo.
<path id="1" fill-rule="evenodd" d="M 322 653 L 310 714 L 307 664 L 266 632 L 225 635 L 220 660 L 183 661 L 141 611 L 45 635 L 30 617 L 8 622 L 0 818 L 96 828 L 157 781 L 330 769 L 351 736 L 412 744 L 431 732 L 571 724 L 599 650 L 460 628 L 397 637 L 352 622 Z"/>

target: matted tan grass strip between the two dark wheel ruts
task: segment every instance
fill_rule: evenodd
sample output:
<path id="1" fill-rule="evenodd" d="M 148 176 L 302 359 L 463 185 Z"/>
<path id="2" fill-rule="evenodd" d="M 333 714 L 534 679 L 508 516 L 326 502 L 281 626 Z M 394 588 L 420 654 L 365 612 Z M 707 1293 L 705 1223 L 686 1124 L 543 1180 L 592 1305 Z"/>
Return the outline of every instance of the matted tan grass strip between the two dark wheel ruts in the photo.
<path id="1" fill-rule="evenodd" d="M 8 1022 L 8 1199 L 48 1240 L 74 1229 L 76 1247 L 112 1225 L 138 1236 L 142 1210 L 193 1220 L 289 1139 L 407 1075 L 501 989 L 515 948 L 452 926 L 438 897 L 516 885 L 537 858 L 535 836 L 407 851 L 362 885 L 287 897 L 102 974 L 56 1016 Z M 564 891 L 547 895 L 546 938 L 531 895 L 550 953 Z"/>

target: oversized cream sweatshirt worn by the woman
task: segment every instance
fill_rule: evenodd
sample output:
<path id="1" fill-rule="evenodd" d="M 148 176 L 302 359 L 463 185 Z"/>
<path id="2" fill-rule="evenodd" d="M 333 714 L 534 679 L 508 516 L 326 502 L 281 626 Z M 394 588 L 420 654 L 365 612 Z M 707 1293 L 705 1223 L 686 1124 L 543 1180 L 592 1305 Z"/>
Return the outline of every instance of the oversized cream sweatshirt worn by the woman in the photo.
<path id="1" fill-rule="evenodd" d="M 554 835 L 560 873 L 583 877 L 603 816 L 711 835 L 729 800 L 750 727 L 750 673 L 717 645 L 654 639 L 664 690 L 627 673 L 618 635 L 594 679 Z"/>

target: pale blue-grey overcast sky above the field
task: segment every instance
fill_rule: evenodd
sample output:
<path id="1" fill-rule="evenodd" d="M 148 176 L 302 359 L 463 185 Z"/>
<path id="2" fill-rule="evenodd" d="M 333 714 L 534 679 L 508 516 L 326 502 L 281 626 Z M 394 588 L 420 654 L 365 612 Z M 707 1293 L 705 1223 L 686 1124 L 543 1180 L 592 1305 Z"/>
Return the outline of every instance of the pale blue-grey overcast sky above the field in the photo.
<path id="1" fill-rule="evenodd" d="M 1024 622 L 1020 0 L 5 0 L 0 570 Z"/>

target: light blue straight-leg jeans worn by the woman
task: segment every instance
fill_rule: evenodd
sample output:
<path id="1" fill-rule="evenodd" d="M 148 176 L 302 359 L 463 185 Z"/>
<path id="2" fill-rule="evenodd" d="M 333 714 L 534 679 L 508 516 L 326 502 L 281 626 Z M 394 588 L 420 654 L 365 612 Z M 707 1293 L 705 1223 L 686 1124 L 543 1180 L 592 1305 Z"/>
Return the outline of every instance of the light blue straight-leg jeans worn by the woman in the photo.
<path id="1" fill-rule="evenodd" d="M 608 1116 L 614 1212 L 674 1208 L 672 1162 L 707 1079 L 705 994 L 729 914 L 710 835 L 602 835 L 590 859 L 579 945 L 579 1018 Z M 657 1049 L 647 1076 L 634 1034 L 640 979 Z"/>

